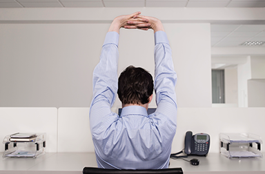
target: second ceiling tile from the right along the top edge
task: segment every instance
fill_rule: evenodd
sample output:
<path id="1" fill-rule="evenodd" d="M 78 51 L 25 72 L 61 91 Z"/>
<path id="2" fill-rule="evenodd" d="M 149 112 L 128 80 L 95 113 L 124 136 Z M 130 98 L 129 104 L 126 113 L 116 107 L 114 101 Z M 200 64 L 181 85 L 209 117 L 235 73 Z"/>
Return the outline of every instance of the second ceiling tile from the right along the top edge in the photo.
<path id="1" fill-rule="evenodd" d="M 187 7 L 193 8 L 224 8 L 228 1 L 188 1 Z"/>

